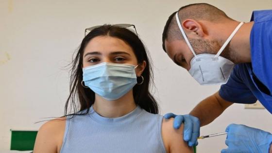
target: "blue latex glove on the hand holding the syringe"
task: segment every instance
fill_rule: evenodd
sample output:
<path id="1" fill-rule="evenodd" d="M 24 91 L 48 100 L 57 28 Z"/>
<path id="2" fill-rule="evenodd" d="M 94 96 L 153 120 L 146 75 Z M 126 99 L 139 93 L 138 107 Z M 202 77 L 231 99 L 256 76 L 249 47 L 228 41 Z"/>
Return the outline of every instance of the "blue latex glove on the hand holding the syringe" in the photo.
<path id="1" fill-rule="evenodd" d="M 225 141 L 228 146 L 221 153 L 269 153 L 272 134 L 245 125 L 230 124 Z"/>

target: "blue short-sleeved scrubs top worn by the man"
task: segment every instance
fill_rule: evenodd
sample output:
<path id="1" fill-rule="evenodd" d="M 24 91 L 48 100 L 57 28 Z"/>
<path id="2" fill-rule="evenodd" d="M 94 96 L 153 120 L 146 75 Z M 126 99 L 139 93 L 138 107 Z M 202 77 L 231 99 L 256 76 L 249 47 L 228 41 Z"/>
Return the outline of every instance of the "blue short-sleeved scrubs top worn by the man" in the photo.
<path id="1" fill-rule="evenodd" d="M 251 21 L 251 63 L 236 65 L 219 94 L 235 103 L 259 100 L 272 114 L 272 10 L 254 11 Z"/>

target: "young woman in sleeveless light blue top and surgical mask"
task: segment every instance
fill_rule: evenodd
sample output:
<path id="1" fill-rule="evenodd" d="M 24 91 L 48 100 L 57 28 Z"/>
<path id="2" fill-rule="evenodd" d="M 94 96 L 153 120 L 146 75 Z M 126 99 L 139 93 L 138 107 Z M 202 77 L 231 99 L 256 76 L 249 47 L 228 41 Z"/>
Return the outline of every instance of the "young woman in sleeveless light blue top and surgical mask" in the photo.
<path id="1" fill-rule="evenodd" d="M 65 117 L 48 121 L 34 153 L 192 153 L 183 126 L 158 115 L 149 92 L 146 49 L 132 31 L 103 25 L 90 31 L 73 61 Z M 76 101 L 80 110 L 67 115 Z"/>

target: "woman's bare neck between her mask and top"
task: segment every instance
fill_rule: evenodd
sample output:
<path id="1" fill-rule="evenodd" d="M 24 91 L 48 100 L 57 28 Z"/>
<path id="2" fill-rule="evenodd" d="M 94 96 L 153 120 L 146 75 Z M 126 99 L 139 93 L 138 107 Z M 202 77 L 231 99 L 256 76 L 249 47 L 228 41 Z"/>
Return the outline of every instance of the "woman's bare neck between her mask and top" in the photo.
<path id="1" fill-rule="evenodd" d="M 116 101 L 107 101 L 96 94 L 93 109 L 105 118 L 118 118 L 124 116 L 136 108 L 133 98 L 133 90 Z"/>

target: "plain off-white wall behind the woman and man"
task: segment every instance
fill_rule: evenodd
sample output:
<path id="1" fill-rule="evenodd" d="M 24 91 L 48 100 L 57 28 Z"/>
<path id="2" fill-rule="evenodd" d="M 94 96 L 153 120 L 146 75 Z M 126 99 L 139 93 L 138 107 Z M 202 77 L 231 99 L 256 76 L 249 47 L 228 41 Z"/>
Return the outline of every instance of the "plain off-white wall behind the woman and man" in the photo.
<path id="1" fill-rule="evenodd" d="M 9 129 L 38 129 L 42 123 L 34 122 L 63 115 L 69 79 L 65 66 L 86 27 L 136 25 L 153 59 L 161 114 L 187 114 L 217 91 L 219 86 L 198 85 L 161 48 L 167 18 L 194 2 L 213 4 L 240 21 L 249 21 L 253 10 L 272 8 L 272 0 L 0 0 L 0 153 L 9 150 Z M 230 123 L 272 132 L 271 120 L 267 110 L 234 104 L 201 135 L 223 132 Z M 199 140 L 198 153 L 219 153 L 224 138 Z"/>

